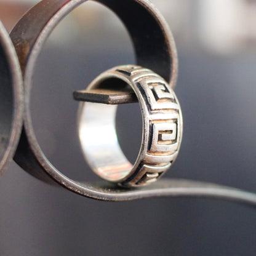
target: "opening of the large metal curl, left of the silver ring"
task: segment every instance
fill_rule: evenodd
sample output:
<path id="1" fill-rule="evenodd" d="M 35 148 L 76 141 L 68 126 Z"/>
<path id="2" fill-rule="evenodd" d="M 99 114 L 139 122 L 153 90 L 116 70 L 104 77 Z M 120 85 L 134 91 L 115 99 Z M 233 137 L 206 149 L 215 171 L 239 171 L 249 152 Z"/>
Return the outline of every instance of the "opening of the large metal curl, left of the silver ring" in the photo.
<path id="1" fill-rule="evenodd" d="M 93 1 L 68 14 L 42 48 L 30 97 L 33 130 L 44 156 L 72 180 L 95 179 L 81 151 L 72 93 L 125 63 L 135 63 L 129 33 L 112 10 Z"/>

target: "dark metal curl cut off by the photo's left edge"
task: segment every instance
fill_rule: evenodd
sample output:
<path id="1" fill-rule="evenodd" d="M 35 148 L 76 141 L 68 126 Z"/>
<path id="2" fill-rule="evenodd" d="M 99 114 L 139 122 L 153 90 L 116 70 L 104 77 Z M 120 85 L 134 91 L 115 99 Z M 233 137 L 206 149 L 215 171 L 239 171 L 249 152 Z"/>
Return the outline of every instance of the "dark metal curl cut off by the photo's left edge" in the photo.
<path id="1" fill-rule="evenodd" d="M 9 34 L 0 22 L 0 175 L 17 148 L 22 114 L 22 73 Z"/>

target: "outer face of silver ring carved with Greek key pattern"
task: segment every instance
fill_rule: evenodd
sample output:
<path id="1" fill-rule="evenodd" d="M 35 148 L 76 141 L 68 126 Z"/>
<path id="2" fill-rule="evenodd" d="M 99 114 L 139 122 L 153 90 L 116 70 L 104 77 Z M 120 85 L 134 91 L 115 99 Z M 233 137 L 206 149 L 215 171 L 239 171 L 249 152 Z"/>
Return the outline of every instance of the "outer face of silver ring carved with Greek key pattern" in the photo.
<path id="1" fill-rule="evenodd" d="M 122 185 L 142 186 L 156 181 L 177 158 L 182 140 L 182 113 L 177 97 L 164 79 L 140 66 L 119 66 L 136 85 L 145 114 L 145 145 L 141 161 Z"/>

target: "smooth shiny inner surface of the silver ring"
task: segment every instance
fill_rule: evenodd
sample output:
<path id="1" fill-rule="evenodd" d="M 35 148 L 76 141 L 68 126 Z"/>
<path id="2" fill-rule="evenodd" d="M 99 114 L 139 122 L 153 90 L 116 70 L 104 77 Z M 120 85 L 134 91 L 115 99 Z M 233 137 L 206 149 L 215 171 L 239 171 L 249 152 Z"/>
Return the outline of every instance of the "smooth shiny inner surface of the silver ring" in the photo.
<path id="1" fill-rule="evenodd" d="M 96 84 L 93 89 L 121 90 L 127 87 L 129 85 L 121 79 L 110 78 Z M 126 177 L 133 167 L 119 145 L 117 110 L 118 105 L 86 102 L 82 103 L 79 116 L 79 138 L 84 156 L 94 172 L 110 181 Z M 126 118 L 130 119 L 129 116 Z"/>

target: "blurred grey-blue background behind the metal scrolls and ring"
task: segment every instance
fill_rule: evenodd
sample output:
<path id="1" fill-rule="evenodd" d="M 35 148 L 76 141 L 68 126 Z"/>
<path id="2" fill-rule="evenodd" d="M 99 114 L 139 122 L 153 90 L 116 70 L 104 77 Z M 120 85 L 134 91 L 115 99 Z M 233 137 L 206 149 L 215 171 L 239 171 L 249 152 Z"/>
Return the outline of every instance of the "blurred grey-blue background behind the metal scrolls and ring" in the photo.
<path id="1" fill-rule="evenodd" d="M 38 1 L 0 0 L 8 30 Z M 184 117 L 180 155 L 166 177 L 256 192 L 256 1 L 154 0 L 174 33 Z M 102 71 L 134 63 L 129 35 L 87 2 L 57 26 L 39 57 L 33 124 L 50 161 L 97 180 L 82 156 L 72 92 Z M 137 104 L 118 111 L 128 158 L 141 139 Z M 0 180 L 0 255 L 256 255 L 255 209 L 207 199 L 100 202 L 53 188 L 12 163 Z"/>

